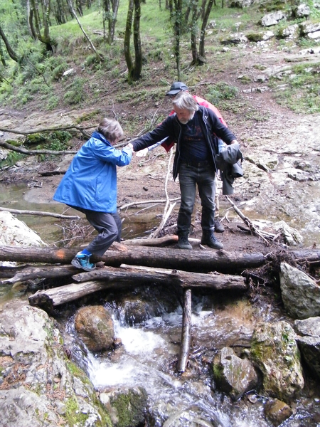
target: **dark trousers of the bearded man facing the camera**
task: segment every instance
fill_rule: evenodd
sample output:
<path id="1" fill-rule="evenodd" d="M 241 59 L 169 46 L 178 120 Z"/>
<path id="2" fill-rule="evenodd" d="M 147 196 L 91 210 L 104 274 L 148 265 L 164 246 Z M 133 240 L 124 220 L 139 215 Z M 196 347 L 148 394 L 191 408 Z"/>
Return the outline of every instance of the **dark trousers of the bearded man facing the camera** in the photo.
<path id="1" fill-rule="evenodd" d="M 215 172 L 211 164 L 193 166 L 181 163 L 179 170 L 181 205 L 178 212 L 178 236 L 188 234 L 191 226 L 191 214 L 196 200 L 196 184 L 201 199 L 201 228 L 203 231 L 215 229 Z"/>

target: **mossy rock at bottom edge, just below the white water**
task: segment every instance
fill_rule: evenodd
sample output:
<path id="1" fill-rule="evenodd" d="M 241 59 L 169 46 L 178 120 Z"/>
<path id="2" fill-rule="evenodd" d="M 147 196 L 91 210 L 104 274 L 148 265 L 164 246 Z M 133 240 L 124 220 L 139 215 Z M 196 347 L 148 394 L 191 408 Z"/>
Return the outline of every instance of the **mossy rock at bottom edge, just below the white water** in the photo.
<path id="1" fill-rule="evenodd" d="M 107 408 L 114 427 L 144 425 L 147 406 L 146 391 L 142 387 L 100 393 L 100 401 Z"/>

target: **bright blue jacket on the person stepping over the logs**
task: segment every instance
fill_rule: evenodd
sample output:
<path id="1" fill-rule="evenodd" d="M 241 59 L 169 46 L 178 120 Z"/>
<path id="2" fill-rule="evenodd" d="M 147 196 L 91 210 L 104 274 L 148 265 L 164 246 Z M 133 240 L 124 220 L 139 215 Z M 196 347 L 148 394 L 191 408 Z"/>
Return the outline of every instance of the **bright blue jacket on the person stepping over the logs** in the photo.
<path id="1" fill-rule="evenodd" d="M 99 132 L 80 148 L 53 199 L 90 211 L 117 212 L 117 166 L 126 166 L 132 151 L 112 147 Z"/>

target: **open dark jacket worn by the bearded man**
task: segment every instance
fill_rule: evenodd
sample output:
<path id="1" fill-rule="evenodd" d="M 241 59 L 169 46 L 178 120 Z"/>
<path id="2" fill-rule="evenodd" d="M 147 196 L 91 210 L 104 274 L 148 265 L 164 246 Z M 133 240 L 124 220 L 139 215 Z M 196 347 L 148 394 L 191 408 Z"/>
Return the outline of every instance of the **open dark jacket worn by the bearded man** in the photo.
<path id="1" fill-rule="evenodd" d="M 220 122 L 218 116 L 216 116 L 212 110 L 199 106 L 199 110 L 195 112 L 195 115 L 200 115 L 199 122 L 201 123 L 203 137 L 206 139 L 208 144 L 210 159 L 212 159 L 215 173 L 217 173 L 218 169 L 215 165 L 215 155 L 218 154 L 218 137 L 223 139 L 223 141 L 228 145 L 233 141 L 233 139 L 236 139 L 236 137 L 228 127 L 225 127 L 225 125 Z M 166 120 L 156 127 L 156 129 L 132 142 L 134 151 L 140 151 L 141 149 L 150 147 L 150 145 L 161 141 L 161 139 L 169 137 L 162 145 L 166 144 L 169 146 L 173 141 L 176 142 L 176 155 L 174 157 L 173 168 L 174 179 L 176 179 L 180 164 L 181 130 L 181 123 L 178 121 L 176 114 L 166 117 Z"/>

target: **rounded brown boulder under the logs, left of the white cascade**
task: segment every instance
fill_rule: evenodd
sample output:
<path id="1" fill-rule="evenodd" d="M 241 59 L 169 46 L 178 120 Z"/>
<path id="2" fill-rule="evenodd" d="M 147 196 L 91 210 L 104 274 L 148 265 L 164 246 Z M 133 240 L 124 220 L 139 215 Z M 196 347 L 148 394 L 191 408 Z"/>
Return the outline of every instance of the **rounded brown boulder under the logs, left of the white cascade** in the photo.
<path id="1" fill-rule="evenodd" d="M 75 330 L 91 352 L 112 348 L 113 322 L 110 313 L 102 305 L 80 308 L 75 315 Z"/>

